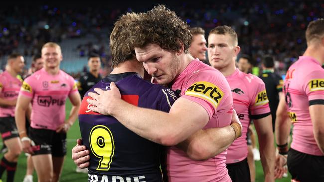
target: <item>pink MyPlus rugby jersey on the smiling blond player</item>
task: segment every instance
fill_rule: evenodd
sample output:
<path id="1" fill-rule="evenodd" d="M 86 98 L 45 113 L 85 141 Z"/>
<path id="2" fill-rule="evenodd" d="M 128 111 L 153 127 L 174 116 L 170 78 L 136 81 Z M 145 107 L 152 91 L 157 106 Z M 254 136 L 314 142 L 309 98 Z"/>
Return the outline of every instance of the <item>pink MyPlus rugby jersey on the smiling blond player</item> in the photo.
<path id="1" fill-rule="evenodd" d="M 19 94 L 32 98 L 31 127 L 56 130 L 65 120 L 67 96 L 77 91 L 73 77 L 62 70 L 51 75 L 42 68 L 27 77 Z"/>

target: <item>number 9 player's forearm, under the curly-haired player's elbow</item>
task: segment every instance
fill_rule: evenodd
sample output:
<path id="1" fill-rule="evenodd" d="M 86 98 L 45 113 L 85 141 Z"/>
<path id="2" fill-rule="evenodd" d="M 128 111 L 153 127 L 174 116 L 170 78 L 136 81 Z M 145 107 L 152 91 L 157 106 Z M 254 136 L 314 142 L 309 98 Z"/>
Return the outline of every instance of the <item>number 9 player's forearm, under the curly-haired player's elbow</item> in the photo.
<path id="1" fill-rule="evenodd" d="M 235 139 L 231 126 L 199 130 L 177 146 L 194 160 L 206 160 L 227 149 Z"/>

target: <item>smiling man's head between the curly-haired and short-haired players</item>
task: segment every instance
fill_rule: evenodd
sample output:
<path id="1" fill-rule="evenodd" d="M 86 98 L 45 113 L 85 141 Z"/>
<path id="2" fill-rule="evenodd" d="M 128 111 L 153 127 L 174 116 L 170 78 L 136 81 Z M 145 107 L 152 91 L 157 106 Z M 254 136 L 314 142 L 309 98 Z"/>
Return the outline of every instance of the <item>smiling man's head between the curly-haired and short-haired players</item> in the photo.
<path id="1" fill-rule="evenodd" d="M 193 58 L 198 58 L 200 61 L 206 61 L 207 41 L 205 39 L 205 30 L 201 27 L 190 28 L 192 40 L 189 47 L 189 53 Z"/>

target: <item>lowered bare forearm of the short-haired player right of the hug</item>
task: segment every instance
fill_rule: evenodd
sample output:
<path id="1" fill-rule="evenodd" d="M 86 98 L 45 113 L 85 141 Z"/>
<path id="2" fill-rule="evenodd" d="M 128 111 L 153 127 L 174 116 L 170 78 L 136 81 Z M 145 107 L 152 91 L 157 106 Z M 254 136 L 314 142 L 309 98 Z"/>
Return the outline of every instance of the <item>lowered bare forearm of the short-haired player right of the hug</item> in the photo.
<path id="1" fill-rule="evenodd" d="M 272 132 L 259 135 L 259 147 L 265 182 L 274 182 L 275 146 Z"/>

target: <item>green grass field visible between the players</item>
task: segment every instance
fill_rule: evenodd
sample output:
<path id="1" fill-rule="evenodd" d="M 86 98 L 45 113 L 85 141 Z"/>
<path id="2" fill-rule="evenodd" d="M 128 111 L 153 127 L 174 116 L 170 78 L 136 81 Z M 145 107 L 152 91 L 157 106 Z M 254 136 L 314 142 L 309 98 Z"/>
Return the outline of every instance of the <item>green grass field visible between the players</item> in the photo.
<path id="1" fill-rule="evenodd" d="M 66 115 L 69 115 L 69 111 L 71 109 L 71 103 L 67 101 L 66 105 Z M 64 162 L 64 167 L 62 171 L 62 175 L 60 178 L 60 182 L 86 182 L 87 181 L 87 174 L 82 173 L 76 173 L 75 172 L 75 164 L 71 158 L 72 155 L 72 148 L 76 144 L 76 139 L 80 138 L 80 130 L 79 130 L 79 123 L 76 121 L 74 125 L 71 127 L 71 129 L 68 132 L 67 135 L 67 155 Z M 0 139 L 0 147 L 2 147 L 2 141 Z M 3 157 L 3 154 L 0 154 L 0 158 Z M 15 175 L 15 182 L 22 182 L 23 178 L 26 174 L 26 156 L 23 154 L 20 155 L 19 161 L 18 161 L 18 167 Z M 256 182 L 263 182 L 263 171 L 262 171 L 262 165 L 260 161 L 256 161 Z M 6 181 L 6 172 L 2 176 L 2 181 Z M 36 172 L 34 172 L 34 182 L 37 182 L 37 175 Z M 288 178 L 282 178 L 279 180 L 276 180 L 276 182 L 290 182 L 290 176 Z"/>

